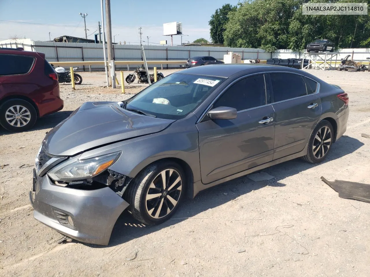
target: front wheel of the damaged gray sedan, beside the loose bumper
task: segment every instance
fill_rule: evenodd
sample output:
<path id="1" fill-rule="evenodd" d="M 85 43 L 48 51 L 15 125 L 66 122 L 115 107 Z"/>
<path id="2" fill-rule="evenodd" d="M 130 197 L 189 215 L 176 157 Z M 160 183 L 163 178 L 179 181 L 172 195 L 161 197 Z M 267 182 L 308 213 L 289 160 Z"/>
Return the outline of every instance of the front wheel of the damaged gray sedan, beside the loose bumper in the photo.
<path id="1" fill-rule="evenodd" d="M 146 225 L 169 219 L 185 195 L 185 174 L 172 161 L 159 161 L 144 168 L 127 188 L 125 199 L 132 216 Z"/>

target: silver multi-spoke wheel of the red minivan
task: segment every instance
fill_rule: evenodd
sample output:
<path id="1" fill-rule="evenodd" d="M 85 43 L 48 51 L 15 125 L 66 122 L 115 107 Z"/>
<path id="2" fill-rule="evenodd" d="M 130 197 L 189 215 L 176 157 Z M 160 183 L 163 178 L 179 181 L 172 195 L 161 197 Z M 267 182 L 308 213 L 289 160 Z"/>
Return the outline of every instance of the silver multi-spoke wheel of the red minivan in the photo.
<path id="1" fill-rule="evenodd" d="M 36 119 L 36 109 L 26 100 L 10 99 L 0 106 L 0 124 L 8 131 L 29 130 L 36 123 Z"/>

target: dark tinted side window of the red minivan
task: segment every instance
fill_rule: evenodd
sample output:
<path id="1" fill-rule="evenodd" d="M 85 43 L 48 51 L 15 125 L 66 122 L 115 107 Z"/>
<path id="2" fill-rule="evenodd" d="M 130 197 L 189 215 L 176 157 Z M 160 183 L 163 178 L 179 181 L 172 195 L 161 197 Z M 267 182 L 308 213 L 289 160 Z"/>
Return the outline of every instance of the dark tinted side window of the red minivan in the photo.
<path id="1" fill-rule="evenodd" d="M 30 71 L 35 58 L 23 55 L 0 54 L 0 75 L 19 75 Z"/>

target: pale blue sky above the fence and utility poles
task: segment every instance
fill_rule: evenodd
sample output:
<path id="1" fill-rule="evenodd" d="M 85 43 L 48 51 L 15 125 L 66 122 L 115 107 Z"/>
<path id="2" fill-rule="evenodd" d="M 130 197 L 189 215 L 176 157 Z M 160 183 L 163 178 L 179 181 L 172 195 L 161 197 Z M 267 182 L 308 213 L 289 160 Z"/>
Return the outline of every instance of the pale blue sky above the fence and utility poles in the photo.
<path id="1" fill-rule="evenodd" d="M 217 8 L 225 3 L 236 5 L 239 0 L 111 0 L 112 35 L 116 42 L 139 44 L 138 27 L 142 40 L 149 44 L 166 40 L 162 36 L 163 23 L 182 22 L 185 41 L 199 37 L 209 40 L 208 21 Z M 154 4 L 155 3 L 155 4 Z M 100 0 L 0 0 L 0 40 L 17 35 L 33 40 L 49 40 L 61 35 L 84 37 L 84 20 L 79 13 L 87 13 L 88 38 L 97 33 L 101 21 Z M 16 22 L 9 22 L 16 21 Z M 29 24 L 33 23 L 33 24 Z M 180 36 L 174 36 L 174 44 L 180 44 Z"/>

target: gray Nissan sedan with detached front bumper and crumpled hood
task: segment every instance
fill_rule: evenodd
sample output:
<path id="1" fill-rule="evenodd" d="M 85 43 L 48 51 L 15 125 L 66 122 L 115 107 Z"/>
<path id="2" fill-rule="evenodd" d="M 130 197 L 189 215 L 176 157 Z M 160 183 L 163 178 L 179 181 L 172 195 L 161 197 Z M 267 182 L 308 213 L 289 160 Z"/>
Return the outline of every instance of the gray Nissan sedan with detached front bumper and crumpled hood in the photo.
<path id="1" fill-rule="evenodd" d="M 108 244 L 126 208 L 159 224 L 203 189 L 298 157 L 320 163 L 348 115 L 341 88 L 298 69 L 185 69 L 123 102 L 84 103 L 52 129 L 36 158 L 34 218 Z"/>

